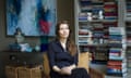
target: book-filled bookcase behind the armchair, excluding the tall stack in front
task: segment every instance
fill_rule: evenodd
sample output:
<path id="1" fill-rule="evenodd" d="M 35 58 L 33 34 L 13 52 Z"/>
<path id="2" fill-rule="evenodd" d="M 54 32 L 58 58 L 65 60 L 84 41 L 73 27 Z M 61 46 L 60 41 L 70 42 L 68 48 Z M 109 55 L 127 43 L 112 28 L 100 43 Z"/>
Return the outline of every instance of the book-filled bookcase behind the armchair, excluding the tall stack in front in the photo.
<path id="1" fill-rule="evenodd" d="M 108 28 L 118 26 L 117 0 L 74 0 L 75 41 L 93 54 L 93 63 L 108 61 Z"/>

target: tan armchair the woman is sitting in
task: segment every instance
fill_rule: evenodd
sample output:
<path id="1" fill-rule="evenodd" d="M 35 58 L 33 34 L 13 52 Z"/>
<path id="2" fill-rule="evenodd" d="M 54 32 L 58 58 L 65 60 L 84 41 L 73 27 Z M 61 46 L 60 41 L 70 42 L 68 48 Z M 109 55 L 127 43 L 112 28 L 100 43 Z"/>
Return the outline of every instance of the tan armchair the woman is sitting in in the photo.
<path id="1" fill-rule="evenodd" d="M 104 74 L 93 69 L 90 67 L 90 62 L 92 61 L 91 53 L 90 52 L 82 52 L 79 54 L 79 63 L 78 67 L 84 67 L 87 69 L 91 78 L 105 78 Z M 50 78 L 49 77 L 49 62 L 47 57 L 47 53 L 44 53 L 44 78 Z"/>

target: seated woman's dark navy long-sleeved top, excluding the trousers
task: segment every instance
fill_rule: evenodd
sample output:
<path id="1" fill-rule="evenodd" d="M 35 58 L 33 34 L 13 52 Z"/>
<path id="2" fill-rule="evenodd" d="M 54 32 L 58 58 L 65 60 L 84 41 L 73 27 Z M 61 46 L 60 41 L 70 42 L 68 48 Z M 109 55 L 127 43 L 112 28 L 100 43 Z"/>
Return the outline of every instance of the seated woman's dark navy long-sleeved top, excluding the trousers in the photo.
<path id="1" fill-rule="evenodd" d="M 78 54 L 72 56 L 68 52 L 68 49 L 62 48 L 59 40 L 53 40 L 49 43 L 47 54 L 50 68 L 52 68 L 53 65 L 57 65 L 61 68 L 72 64 L 78 64 Z"/>

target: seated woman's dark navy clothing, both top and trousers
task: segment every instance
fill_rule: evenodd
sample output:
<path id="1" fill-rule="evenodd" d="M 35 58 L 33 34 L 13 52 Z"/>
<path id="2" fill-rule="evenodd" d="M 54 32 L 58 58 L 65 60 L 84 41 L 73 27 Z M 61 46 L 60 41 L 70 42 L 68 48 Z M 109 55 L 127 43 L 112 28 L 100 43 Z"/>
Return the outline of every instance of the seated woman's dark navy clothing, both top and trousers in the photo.
<path id="1" fill-rule="evenodd" d="M 55 40 L 49 43 L 48 47 L 48 58 L 50 64 L 50 77 L 51 78 L 90 78 L 86 69 L 84 68 L 74 68 L 72 69 L 71 75 L 61 75 L 57 72 L 53 72 L 52 66 L 57 65 L 58 67 L 64 67 L 72 64 L 78 65 L 78 53 L 72 56 L 68 49 L 63 49 L 59 40 Z"/>

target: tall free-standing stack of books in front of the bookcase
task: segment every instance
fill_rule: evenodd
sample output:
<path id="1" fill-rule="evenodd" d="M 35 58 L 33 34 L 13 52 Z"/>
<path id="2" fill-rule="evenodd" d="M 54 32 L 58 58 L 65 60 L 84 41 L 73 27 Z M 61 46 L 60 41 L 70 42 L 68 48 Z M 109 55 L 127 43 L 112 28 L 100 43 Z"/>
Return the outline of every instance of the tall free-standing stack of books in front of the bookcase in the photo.
<path id="1" fill-rule="evenodd" d="M 109 27 L 109 54 L 107 74 L 114 76 L 127 76 L 127 58 L 124 48 L 124 28 Z"/>

